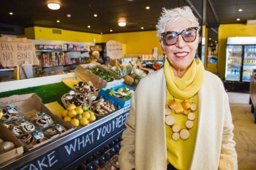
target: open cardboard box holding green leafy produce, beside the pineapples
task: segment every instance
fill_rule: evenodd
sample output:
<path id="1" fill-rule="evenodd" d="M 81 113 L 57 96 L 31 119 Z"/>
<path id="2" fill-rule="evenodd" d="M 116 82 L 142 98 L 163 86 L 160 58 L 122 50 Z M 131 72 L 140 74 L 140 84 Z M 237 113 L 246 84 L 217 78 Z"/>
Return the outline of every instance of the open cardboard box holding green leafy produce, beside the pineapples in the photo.
<path id="1" fill-rule="evenodd" d="M 98 75 L 93 74 L 87 68 L 102 68 L 105 72 L 108 72 L 114 75 L 115 80 L 107 82 L 104 79 L 100 78 Z M 106 67 L 102 66 L 100 63 L 89 63 L 89 64 L 80 64 L 75 68 L 75 74 L 77 74 L 78 81 L 91 81 L 95 87 L 102 89 L 104 87 L 113 87 L 124 82 L 124 79 L 120 78 L 115 72 L 110 71 Z"/>

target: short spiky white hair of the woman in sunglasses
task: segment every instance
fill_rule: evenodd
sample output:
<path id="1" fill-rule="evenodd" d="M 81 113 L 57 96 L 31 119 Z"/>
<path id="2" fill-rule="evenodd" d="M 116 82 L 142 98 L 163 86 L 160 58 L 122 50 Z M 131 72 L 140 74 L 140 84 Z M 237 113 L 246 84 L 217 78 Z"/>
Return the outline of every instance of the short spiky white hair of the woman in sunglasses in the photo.
<path id="1" fill-rule="evenodd" d="M 191 27 L 199 27 L 198 19 L 194 16 L 192 9 L 189 6 L 166 9 L 163 7 L 161 16 L 156 24 L 156 36 L 161 39 L 161 33 L 165 31 L 166 26 L 181 19 L 188 19 L 192 23 Z M 198 32 L 200 27 L 198 29 Z"/>

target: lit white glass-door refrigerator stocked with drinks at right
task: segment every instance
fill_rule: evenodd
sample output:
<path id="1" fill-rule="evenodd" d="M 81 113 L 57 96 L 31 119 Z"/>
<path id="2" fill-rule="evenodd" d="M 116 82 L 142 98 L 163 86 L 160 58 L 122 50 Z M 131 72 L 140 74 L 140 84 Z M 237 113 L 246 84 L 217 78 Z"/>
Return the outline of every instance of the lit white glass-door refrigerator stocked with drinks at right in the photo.
<path id="1" fill-rule="evenodd" d="M 225 80 L 250 82 L 256 69 L 256 36 L 228 37 Z"/>

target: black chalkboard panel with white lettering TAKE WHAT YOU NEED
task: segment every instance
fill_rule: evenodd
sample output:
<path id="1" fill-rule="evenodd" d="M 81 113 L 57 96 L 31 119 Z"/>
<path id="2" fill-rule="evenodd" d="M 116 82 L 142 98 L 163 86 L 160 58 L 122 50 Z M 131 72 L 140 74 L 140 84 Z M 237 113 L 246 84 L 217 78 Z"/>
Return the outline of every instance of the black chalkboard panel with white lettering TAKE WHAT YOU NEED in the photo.
<path id="1" fill-rule="evenodd" d="M 125 129 L 125 120 L 129 110 L 116 117 L 99 124 L 84 134 L 73 138 L 63 145 L 54 148 L 36 159 L 22 165 L 16 170 L 53 170 L 62 169 L 74 160 L 80 158 L 96 146 L 108 140 L 121 130 Z"/>

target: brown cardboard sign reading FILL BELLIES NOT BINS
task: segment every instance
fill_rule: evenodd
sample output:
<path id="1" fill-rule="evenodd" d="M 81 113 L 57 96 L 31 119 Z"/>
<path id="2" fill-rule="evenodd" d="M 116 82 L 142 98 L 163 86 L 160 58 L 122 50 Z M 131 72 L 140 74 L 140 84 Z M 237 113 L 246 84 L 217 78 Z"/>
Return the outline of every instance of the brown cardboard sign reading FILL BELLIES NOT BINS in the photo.
<path id="1" fill-rule="evenodd" d="M 35 45 L 27 38 L 0 38 L 0 62 L 3 67 L 38 65 Z"/>

